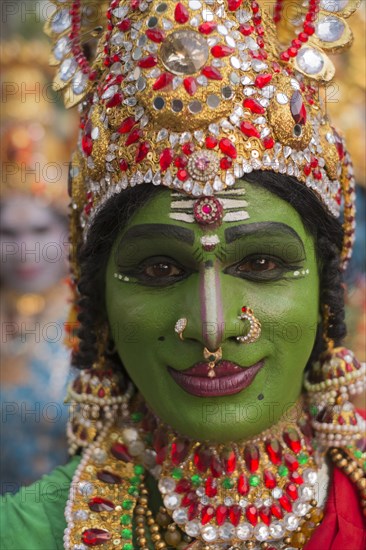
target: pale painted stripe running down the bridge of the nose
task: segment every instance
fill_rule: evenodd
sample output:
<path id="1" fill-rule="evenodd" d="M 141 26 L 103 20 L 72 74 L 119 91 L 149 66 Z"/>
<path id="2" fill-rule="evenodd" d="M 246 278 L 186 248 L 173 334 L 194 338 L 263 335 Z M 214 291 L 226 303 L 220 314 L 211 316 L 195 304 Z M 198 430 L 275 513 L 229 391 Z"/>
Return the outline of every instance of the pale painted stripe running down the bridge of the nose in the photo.
<path id="1" fill-rule="evenodd" d="M 201 265 L 199 299 L 202 340 L 210 351 L 215 351 L 222 343 L 224 331 L 220 270 L 216 259 L 207 260 Z"/>

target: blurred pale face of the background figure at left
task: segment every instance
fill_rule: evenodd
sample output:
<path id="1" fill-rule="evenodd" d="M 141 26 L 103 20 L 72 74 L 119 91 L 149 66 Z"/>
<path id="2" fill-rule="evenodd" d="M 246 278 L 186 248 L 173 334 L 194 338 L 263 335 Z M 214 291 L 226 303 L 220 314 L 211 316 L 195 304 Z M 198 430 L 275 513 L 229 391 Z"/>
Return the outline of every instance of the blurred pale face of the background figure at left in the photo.
<path id="1" fill-rule="evenodd" d="M 2 202 L 0 244 L 1 282 L 9 290 L 44 292 L 67 273 L 66 219 L 38 198 Z"/>

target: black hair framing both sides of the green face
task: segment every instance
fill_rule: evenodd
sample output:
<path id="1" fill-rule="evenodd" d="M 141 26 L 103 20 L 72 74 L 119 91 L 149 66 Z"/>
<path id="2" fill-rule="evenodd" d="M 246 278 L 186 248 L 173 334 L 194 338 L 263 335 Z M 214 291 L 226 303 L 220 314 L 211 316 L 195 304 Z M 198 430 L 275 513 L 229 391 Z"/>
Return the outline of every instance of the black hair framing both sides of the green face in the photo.
<path id="1" fill-rule="evenodd" d="M 327 212 L 312 191 L 293 177 L 270 171 L 254 171 L 245 176 L 245 181 L 259 185 L 287 201 L 300 214 L 304 227 L 314 238 L 320 277 L 320 303 L 323 307 L 327 305 L 330 313 L 327 334 L 335 345 L 339 345 L 346 335 L 343 275 L 340 269 L 343 240 L 341 223 Z M 107 323 L 104 277 L 112 245 L 133 213 L 161 191 L 162 188 L 142 184 L 110 198 L 93 221 L 87 242 L 78 251 L 81 327 L 80 346 L 73 356 L 73 364 L 79 368 L 90 368 L 96 361 L 98 332 Z M 323 324 L 319 323 L 308 364 L 325 349 L 323 330 Z M 113 362 L 123 369 L 117 354 Z"/>

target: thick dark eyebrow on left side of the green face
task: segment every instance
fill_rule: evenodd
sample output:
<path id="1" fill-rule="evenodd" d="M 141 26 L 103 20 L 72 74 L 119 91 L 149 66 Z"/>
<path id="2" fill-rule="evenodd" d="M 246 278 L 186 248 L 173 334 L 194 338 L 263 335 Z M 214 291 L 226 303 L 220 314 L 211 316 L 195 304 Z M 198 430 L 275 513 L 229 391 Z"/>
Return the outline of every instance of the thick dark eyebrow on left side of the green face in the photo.
<path id="1" fill-rule="evenodd" d="M 154 237 L 165 237 L 166 239 L 175 239 L 182 241 L 190 246 L 194 243 L 194 232 L 185 227 L 179 227 L 177 225 L 168 225 L 163 223 L 145 223 L 141 225 L 135 225 L 130 227 L 123 235 L 119 242 L 119 246 L 127 243 L 131 239 L 151 239 Z"/>

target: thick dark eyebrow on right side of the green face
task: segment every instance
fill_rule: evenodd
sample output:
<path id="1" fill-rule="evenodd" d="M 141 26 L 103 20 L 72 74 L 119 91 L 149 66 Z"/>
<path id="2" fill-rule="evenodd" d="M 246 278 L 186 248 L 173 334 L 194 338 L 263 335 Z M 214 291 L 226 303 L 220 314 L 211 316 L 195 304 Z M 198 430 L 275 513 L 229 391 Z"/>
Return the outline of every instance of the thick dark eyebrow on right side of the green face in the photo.
<path id="1" fill-rule="evenodd" d="M 230 244 L 241 237 L 250 237 L 253 235 L 258 235 L 260 237 L 274 237 L 276 235 L 288 236 L 295 239 L 305 251 L 304 243 L 302 242 L 300 236 L 292 227 L 286 225 L 285 223 L 257 222 L 237 225 L 235 227 L 225 229 L 225 241 L 227 244 Z"/>

